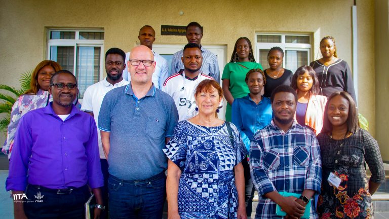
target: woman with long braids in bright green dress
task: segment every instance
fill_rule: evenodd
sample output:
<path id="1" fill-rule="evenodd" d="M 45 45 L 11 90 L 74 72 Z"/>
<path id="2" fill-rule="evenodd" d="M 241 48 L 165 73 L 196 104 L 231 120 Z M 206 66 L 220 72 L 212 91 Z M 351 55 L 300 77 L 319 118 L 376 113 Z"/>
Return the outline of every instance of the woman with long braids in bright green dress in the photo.
<path id="1" fill-rule="evenodd" d="M 263 70 L 262 65 L 255 62 L 250 40 L 241 37 L 235 43 L 231 60 L 225 65 L 221 78 L 224 96 L 227 100 L 226 121 L 231 121 L 231 105 L 234 99 L 247 96 L 250 93 L 245 78 L 247 72 L 254 68 Z"/>

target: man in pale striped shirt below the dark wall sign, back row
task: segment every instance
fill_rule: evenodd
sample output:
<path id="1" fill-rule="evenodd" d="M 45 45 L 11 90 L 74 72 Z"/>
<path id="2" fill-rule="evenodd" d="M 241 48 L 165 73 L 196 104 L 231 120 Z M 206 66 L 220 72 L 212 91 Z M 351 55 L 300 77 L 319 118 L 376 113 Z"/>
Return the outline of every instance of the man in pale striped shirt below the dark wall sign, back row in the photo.
<path id="1" fill-rule="evenodd" d="M 220 70 L 217 63 L 217 57 L 211 51 L 201 46 L 201 39 L 203 38 L 203 27 L 198 22 L 190 22 L 186 26 L 186 40 L 188 43 L 195 43 L 199 45 L 202 56 L 203 64 L 201 66 L 201 72 L 204 75 L 209 75 L 214 78 L 217 83 L 220 84 Z M 184 68 L 181 62 L 183 50 L 174 53 L 172 58 L 172 68 L 170 69 L 170 75 L 176 74 L 179 70 Z"/>

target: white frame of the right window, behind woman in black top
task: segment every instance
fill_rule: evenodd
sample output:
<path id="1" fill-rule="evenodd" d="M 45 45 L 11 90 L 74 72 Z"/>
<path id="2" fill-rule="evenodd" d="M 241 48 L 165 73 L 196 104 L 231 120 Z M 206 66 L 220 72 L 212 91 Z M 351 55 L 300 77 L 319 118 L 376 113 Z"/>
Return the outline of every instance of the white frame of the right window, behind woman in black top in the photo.
<path id="1" fill-rule="evenodd" d="M 281 43 L 257 43 L 258 35 L 281 35 Z M 285 36 L 308 36 L 309 44 L 301 44 L 301 43 L 286 43 Z M 286 54 L 287 50 L 298 50 L 298 51 L 307 51 L 307 63 L 309 65 L 311 60 L 311 50 L 312 50 L 312 34 L 309 33 L 271 33 L 271 32 L 256 32 L 255 33 L 255 60 L 260 61 L 259 59 L 259 50 L 269 50 L 272 47 L 280 47 L 284 50 L 284 54 Z M 285 55 L 284 55 L 285 56 Z M 282 66 L 285 68 L 286 60 L 284 59 Z"/>

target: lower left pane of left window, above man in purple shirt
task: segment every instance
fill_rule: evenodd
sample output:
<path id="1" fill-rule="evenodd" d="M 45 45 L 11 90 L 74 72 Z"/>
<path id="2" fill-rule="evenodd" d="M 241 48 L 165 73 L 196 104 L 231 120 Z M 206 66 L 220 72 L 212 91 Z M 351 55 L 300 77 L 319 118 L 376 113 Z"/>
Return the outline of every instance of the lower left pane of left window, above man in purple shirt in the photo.
<path id="1" fill-rule="evenodd" d="M 74 69 L 74 47 L 72 46 L 51 46 L 50 60 L 58 62 L 62 69 L 73 72 Z M 73 72 L 74 73 L 74 72 Z"/>

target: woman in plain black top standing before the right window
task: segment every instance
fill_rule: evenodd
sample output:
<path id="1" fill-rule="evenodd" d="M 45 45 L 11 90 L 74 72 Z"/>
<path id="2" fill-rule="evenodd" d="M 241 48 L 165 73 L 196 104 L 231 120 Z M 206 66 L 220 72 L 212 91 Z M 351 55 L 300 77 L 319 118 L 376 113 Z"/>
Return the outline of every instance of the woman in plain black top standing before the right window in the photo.
<path id="1" fill-rule="evenodd" d="M 288 85 L 292 82 L 293 72 L 282 67 L 284 51 L 280 47 L 273 47 L 267 54 L 270 67 L 264 70 L 266 77 L 263 96 L 270 97 L 271 92 L 279 85 Z"/>

